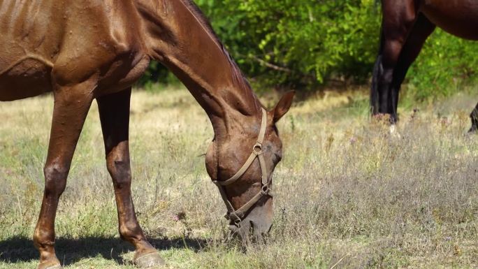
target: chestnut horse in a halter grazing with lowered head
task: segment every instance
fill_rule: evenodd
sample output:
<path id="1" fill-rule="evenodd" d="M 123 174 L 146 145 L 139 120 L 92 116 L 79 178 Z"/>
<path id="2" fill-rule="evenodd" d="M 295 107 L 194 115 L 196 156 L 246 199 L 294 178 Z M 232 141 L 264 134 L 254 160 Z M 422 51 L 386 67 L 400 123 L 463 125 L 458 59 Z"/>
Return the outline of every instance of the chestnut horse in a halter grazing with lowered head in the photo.
<path id="1" fill-rule="evenodd" d="M 96 99 L 113 178 L 119 233 L 136 248 L 140 267 L 161 265 L 131 200 L 128 129 L 131 85 L 151 59 L 184 82 L 208 114 L 215 137 L 206 154 L 234 232 L 268 232 L 272 173 L 282 143 L 275 123 L 289 110 L 288 93 L 264 110 L 242 73 L 189 0 L 0 0 L 0 101 L 52 92 L 55 105 L 45 191 L 34 233 L 39 269 L 61 268 L 55 215 L 71 159 Z"/>

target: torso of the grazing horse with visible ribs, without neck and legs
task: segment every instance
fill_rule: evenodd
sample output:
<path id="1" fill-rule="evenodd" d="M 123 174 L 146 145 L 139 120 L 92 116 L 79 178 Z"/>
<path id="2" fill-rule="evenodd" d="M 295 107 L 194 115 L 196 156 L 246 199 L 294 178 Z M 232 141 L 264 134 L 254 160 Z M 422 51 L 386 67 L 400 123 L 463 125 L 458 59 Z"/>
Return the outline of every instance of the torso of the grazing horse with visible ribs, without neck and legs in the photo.
<path id="1" fill-rule="evenodd" d="M 0 101 L 50 92 L 143 61 L 131 1 L 0 0 Z M 121 69 L 117 71 L 115 69 Z M 106 83 L 108 84 L 108 83 Z"/>

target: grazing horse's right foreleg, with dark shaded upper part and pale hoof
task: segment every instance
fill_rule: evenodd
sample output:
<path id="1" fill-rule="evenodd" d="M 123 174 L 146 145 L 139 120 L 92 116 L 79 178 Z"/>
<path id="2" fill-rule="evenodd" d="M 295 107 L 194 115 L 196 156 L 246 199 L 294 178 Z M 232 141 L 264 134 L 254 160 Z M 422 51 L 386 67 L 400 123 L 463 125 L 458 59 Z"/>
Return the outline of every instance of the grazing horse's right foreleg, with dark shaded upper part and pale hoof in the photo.
<path id="1" fill-rule="evenodd" d="M 129 161 L 129 100 L 131 88 L 102 96 L 98 102 L 101 129 L 106 149 L 106 165 L 113 179 L 118 212 L 119 234 L 136 248 L 137 266 L 150 267 L 164 263 L 156 249 L 147 242 L 138 224 L 131 198 Z"/>

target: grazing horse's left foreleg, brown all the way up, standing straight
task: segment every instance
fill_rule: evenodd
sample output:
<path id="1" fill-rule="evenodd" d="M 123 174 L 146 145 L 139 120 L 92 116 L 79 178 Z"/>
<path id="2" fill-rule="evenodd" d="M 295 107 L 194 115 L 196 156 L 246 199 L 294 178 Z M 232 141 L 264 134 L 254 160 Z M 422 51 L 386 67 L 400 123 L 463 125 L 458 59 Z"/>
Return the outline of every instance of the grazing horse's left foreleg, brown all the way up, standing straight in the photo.
<path id="1" fill-rule="evenodd" d="M 55 217 L 58 200 L 66 187 L 73 152 L 92 103 L 94 82 L 57 87 L 48 156 L 45 163 L 45 191 L 34 233 L 40 252 L 38 269 L 61 268 L 55 254 Z"/>

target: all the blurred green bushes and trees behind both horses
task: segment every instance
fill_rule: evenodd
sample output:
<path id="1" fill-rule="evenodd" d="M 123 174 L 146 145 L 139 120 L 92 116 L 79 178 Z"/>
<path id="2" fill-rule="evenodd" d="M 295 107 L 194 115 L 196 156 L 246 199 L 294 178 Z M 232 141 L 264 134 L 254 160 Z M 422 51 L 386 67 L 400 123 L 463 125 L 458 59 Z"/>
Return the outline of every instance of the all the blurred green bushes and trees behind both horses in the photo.
<path id="1" fill-rule="evenodd" d="M 195 0 L 256 91 L 368 85 L 377 56 L 376 0 Z M 408 99 L 449 96 L 476 80 L 478 47 L 437 30 L 407 76 Z M 152 63 L 140 83 L 178 80 Z"/>

